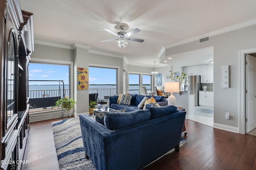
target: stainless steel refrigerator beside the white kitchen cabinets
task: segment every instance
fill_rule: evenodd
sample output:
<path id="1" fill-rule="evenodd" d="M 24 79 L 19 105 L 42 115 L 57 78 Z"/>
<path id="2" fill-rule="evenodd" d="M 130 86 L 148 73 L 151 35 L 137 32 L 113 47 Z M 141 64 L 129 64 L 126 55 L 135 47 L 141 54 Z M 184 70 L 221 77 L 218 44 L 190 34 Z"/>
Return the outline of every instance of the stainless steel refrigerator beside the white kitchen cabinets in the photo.
<path id="1" fill-rule="evenodd" d="M 200 76 L 188 76 L 188 91 L 190 94 L 195 95 L 195 106 L 199 106 L 199 92 L 201 90 L 201 77 Z"/>

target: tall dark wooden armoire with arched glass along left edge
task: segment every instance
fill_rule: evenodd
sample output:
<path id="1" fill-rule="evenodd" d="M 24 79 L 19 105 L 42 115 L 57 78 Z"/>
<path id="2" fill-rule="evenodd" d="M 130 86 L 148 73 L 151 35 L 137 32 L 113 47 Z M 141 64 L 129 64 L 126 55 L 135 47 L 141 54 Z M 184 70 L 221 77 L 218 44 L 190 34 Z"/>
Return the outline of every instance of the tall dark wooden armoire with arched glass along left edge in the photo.
<path id="1" fill-rule="evenodd" d="M 29 131 L 28 63 L 33 14 L 19 0 L 0 0 L 0 169 L 20 169 Z M 27 162 L 28 163 L 28 162 Z"/>

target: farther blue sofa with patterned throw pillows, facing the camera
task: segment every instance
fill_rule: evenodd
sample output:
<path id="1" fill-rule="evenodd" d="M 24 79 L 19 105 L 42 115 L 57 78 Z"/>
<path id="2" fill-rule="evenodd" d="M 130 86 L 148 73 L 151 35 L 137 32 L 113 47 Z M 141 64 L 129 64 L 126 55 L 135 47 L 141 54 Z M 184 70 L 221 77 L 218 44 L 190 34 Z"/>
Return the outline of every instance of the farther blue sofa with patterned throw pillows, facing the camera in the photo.
<path id="1" fill-rule="evenodd" d="M 118 96 L 109 96 L 109 107 L 115 110 L 121 110 L 126 109 L 126 111 L 135 111 L 138 110 L 138 104 L 140 104 L 141 100 L 145 97 L 144 95 L 140 94 L 129 94 L 132 96 L 131 104 L 130 105 L 122 105 L 117 104 Z M 146 96 L 148 98 L 151 98 L 152 96 Z M 164 96 L 153 96 L 153 98 L 158 102 L 160 106 L 166 106 L 167 101 L 165 101 Z"/>

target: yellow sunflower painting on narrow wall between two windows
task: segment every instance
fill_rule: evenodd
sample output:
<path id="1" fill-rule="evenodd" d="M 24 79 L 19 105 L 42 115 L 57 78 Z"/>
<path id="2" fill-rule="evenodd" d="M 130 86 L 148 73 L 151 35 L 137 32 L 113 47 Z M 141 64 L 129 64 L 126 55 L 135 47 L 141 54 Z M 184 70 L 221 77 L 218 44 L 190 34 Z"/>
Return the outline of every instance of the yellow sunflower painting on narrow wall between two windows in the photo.
<path id="1" fill-rule="evenodd" d="M 88 90 L 89 88 L 89 76 L 88 68 L 77 68 L 77 89 Z"/>

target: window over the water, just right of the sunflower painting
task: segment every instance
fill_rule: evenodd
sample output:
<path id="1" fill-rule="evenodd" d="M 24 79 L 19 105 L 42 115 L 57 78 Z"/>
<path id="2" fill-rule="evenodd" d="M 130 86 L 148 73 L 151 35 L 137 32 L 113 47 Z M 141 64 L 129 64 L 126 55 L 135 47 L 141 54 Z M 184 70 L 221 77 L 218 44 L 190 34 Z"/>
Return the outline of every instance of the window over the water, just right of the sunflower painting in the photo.
<path id="1" fill-rule="evenodd" d="M 89 66 L 89 94 L 98 93 L 99 99 L 117 95 L 117 68 Z"/>

